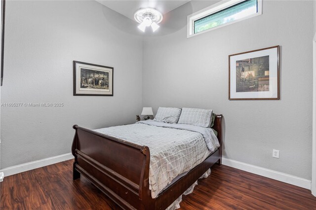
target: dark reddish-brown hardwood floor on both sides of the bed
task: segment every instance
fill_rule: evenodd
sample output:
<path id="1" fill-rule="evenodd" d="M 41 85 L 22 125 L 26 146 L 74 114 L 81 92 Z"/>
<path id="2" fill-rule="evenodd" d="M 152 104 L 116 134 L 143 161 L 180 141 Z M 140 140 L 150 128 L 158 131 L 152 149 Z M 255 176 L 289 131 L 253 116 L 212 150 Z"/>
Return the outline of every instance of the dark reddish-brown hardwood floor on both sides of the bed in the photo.
<path id="1" fill-rule="evenodd" d="M 69 160 L 5 177 L 0 183 L 0 209 L 116 209 L 82 176 L 72 180 L 72 163 Z M 316 210 L 316 197 L 307 189 L 215 165 L 192 194 L 183 196 L 180 206 L 180 210 Z"/>

